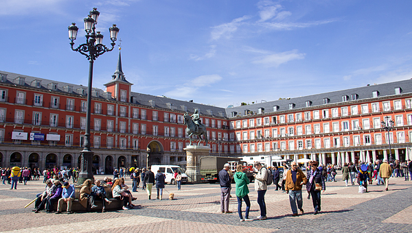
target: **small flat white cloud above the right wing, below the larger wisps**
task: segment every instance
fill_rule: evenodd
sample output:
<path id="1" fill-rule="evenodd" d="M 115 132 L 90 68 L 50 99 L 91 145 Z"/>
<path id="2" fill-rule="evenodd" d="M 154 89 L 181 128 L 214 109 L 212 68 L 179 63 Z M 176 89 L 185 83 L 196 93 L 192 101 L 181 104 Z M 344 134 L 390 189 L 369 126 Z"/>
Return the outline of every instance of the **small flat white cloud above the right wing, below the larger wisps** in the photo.
<path id="1" fill-rule="evenodd" d="M 305 58 L 305 53 L 298 53 L 297 49 L 286 51 L 283 53 L 274 53 L 268 56 L 256 58 L 252 63 L 264 64 L 266 66 L 279 66 L 280 64 L 289 62 L 291 60 L 301 60 Z"/>

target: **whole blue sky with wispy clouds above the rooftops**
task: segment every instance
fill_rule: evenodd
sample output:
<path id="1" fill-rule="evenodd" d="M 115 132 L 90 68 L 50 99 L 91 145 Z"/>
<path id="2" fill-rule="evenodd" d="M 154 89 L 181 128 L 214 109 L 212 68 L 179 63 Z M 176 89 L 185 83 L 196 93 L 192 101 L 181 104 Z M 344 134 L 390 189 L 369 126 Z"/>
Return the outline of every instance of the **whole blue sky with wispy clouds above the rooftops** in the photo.
<path id="1" fill-rule="evenodd" d="M 2 0 L 0 70 L 87 85 L 67 27 L 116 23 L 132 90 L 226 108 L 412 77 L 412 1 Z M 118 42 L 117 42 L 118 45 Z M 100 56 L 93 86 L 115 72 Z"/>

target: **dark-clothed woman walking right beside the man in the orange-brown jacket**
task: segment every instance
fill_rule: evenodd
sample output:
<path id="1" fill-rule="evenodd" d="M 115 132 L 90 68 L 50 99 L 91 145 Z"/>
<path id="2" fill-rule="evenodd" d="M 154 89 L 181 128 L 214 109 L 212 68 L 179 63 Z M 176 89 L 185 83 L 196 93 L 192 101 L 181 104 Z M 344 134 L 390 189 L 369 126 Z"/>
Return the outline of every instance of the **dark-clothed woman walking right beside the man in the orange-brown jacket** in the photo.
<path id="1" fill-rule="evenodd" d="M 321 190 L 325 192 L 325 180 L 323 179 L 322 172 L 318 169 L 317 161 L 312 161 L 310 167 L 311 170 L 308 174 L 309 178 L 306 184 L 306 190 L 312 196 L 313 214 L 318 214 L 319 211 L 321 211 Z M 319 186 L 319 188 L 317 188 L 317 186 Z"/>

